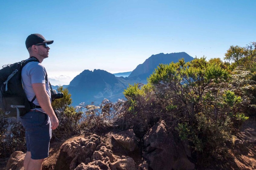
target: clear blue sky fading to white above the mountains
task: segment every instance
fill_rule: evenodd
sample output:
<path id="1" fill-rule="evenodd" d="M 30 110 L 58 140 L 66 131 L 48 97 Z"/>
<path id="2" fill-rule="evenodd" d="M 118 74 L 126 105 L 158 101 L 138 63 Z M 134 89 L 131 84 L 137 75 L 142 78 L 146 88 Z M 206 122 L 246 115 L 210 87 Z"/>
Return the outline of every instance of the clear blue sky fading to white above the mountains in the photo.
<path id="1" fill-rule="evenodd" d="M 152 54 L 223 58 L 256 41 L 256 1 L 0 1 L 0 65 L 28 58 L 25 39 L 50 45 L 50 78 L 67 84 L 83 70 L 132 71 Z"/>

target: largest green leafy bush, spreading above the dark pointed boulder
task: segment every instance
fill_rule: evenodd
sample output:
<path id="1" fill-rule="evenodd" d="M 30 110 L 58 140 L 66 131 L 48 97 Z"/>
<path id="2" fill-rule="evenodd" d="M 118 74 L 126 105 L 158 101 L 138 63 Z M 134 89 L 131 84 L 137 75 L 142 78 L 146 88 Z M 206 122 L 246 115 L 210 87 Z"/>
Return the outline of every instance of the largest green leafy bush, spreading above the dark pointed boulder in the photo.
<path id="1" fill-rule="evenodd" d="M 140 125 L 137 130 L 143 132 L 150 120 L 165 119 L 170 131 L 190 141 L 194 151 L 212 155 L 248 119 L 248 87 L 253 87 L 253 81 L 249 73 L 240 74 L 228 70 L 220 59 L 160 64 L 147 85 L 134 84 L 125 90 L 127 114 L 137 121 L 130 124 Z"/>

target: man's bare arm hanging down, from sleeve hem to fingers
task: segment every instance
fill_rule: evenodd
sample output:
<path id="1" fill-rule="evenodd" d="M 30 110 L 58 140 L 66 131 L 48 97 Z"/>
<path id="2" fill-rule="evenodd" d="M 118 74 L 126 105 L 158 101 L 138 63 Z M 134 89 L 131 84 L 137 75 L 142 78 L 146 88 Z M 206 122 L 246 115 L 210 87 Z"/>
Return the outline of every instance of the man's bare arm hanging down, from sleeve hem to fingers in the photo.
<path id="1" fill-rule="evenodd" d="M 45 111 L 47 115 L 49 115 L 52 129 L 56 129 L 59 126 L 59 120 L 57 119 L 53 108 L 51 106 L 50 97 L 48 96 L 44 83 L 34 83 L 32 84 L 32 88 L 36 94 L 37 101 L 41 108 Z"/>

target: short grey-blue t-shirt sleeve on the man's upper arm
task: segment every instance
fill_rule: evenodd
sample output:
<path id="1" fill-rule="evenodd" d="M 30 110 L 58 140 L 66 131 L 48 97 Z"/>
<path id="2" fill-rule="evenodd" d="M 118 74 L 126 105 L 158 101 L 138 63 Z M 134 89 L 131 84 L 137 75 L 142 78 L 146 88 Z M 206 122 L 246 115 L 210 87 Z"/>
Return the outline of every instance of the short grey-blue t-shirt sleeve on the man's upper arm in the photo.
<path id="1" fill-rule="evenodd" d="M 34 84 L 34 83 L 45 84 L 46 70 L 41 63 L 33 64 L 33 66 L 30 67 L 29 75 L 31 77 L 31 84 Z"/>

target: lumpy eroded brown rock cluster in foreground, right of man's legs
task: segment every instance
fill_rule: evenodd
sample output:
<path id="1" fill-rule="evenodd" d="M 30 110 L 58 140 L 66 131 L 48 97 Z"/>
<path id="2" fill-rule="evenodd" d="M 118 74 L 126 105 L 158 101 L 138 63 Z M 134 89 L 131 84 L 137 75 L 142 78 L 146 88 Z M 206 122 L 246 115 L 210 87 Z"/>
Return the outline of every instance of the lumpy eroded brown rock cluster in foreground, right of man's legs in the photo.
<path id="1" fill-rule="evenodd" d="M 62 160 L 57 161 L 56 168 L 62 170 L 65 167 L 76 170 L 137 169 L 132 158 L 126 156 L 120 158 L 114 155 L 111 147 L 100 143 L 100 138 L 96 134 L 64 143 L 61 146 L 59 159 Z"/>

